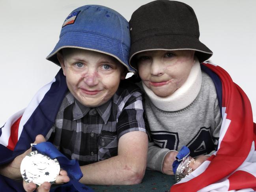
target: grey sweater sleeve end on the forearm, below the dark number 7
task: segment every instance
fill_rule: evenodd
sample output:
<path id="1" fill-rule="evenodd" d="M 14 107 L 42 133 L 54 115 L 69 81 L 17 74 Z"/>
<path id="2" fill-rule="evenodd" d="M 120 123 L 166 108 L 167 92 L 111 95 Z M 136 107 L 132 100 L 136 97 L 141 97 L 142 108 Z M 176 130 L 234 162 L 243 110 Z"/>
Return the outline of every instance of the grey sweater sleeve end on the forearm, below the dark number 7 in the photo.
<path id="1" fill-rule="evenodd" d="M 164 157 L 169 153 L 170 150 L 166 148 L 161 148 L 155 145 L 154 142 L 149 142 L 148 144 L 148 160 L 147 168 L 154 171 L 162 171 Z"/>

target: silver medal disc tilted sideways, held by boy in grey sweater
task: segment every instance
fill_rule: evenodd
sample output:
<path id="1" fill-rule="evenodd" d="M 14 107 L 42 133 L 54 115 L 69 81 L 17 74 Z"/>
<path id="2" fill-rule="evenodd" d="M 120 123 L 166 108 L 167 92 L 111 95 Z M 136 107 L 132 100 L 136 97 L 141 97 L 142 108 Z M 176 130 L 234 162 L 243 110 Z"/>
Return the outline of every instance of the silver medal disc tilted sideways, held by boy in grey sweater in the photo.
<path id="1" fill-rule="evenodd" d="M 179 164 L 175 173 L 176 182 L 179 182 L 192 172 L 192 168 L 189 167 L 190 162 L 195 162 L 194 158 L 187 157 Z"/>

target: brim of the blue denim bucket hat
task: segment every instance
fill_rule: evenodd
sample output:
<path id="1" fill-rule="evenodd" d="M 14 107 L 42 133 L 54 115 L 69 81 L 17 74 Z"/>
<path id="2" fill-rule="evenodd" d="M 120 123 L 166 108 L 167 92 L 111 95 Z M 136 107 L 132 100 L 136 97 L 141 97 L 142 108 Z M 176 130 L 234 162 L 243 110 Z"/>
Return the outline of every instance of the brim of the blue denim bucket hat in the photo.
<path id="1" fill-rule="evenodd" d="M 54 50 L 52 50 L 46 59 L 60 66 L 56 53 L 62 48 L 81 48 L 101 52 L 116 58 L 129 72 L 135 72 L 135 69 L 127 63 L 129 48 L 119 41 L 114 41 L 114 39 L 103 35 L 85 32 L 68 32 L 60 37 Z"/>

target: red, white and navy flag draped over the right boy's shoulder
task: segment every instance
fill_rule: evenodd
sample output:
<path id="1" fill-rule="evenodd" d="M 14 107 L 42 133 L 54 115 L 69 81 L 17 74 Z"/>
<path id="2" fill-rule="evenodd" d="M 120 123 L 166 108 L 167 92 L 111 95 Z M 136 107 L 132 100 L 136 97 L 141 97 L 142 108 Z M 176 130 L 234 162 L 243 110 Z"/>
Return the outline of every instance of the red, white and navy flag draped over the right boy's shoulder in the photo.
<path id="1" fill-rule="evenodd" d="M 213 80 L 222 112 L 217 151 L 170 192 L 252 192 L 256 190 L 256 124 L 250 101 L 219 66 L 201 64 Z"/>

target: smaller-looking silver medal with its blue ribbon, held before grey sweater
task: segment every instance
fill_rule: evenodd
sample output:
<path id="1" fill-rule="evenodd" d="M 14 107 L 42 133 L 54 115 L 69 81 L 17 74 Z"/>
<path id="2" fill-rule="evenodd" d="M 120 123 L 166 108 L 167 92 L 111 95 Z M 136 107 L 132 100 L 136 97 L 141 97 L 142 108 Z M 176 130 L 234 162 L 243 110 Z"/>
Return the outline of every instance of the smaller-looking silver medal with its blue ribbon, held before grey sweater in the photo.
<path id="1" fill-rule="evenodd" d="M 189 167 L 190 162 L 194 162 L 194 158 L 189 157 L 189 148 L 183 146 L 179 151 L 176 159 L 172 164 L 172 171 L 175 174 L 176 182 L 186 177 L 192 172 L 192 168 Z"/>

